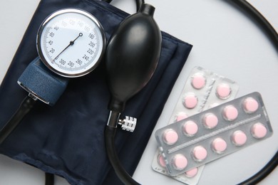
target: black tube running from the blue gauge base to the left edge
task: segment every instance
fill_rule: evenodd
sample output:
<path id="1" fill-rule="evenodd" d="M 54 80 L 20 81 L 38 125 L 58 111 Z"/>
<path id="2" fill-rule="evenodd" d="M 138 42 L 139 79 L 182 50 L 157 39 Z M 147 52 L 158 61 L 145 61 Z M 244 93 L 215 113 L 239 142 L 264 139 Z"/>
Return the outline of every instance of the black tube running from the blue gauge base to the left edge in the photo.
<path id="1" fill-rule="evenodd" d="M 9 137 L 9 134 L 11 134 L 16 126 L 19 125 L 19 122 L 33 108 L 35 102 L 36 100 L 34 100 L 33 98 L 29 96 L 25 97 L 25 99 L 21 102 L 18 110 L 16 110 L 14 115 L 11 117 L 11 120 L 9 120 L 9 122 L 7 122 L 6 125 L 4 125 L 4 127 L 1 129 L 0 144 L 4 142 L 6 137 Z"/>

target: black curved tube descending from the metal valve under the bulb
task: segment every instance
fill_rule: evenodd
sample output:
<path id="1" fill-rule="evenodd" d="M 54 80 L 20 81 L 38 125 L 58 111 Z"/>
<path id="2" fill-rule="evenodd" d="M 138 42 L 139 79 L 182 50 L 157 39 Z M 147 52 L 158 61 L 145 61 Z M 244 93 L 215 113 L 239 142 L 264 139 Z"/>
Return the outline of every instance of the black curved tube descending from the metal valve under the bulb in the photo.
<path id="1" fill-rule="evenodd" d="M 128 172 L 125 171 L 122 164 L 120 163 L 120 159 L 118 158 L 118 154 L 115 149 L 115 133 L 117 128 L 116 127 L 105 127 L 105 149 L 108 155 L 108 159 L 115 170 L 120 181 L 122 181 L 126 185 L 137 185 L 139 184 L 135 181 Z"/>

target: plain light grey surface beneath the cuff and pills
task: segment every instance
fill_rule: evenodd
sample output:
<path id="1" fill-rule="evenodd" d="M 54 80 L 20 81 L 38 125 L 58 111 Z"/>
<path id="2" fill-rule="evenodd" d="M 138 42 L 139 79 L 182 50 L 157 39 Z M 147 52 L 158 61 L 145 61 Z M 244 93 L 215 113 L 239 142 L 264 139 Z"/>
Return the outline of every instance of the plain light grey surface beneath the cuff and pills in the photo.
<path id="1" fill-rule="evenodd" d="M 0 82 L 16 52 L 38 0 L 1 1 Z M 238 97 L 258 91 L 267 107 L 274 134 L 240 152 L 207 164 L 199 184 L 236 184 L 266 164 L 278 149 L 278 55 L 264 32 L 227 0 L 145 0 L 156 7 L 160 29 L 193 45 L 192 52 L 155 129 L 165 126 L 190 70 L 200 65 L 237 81 Z M 278 30 L 278 1 L 249 0 Z M 114 0 L 113 5 L 132 14 L 135 4 Z M 166 122 L 165 122 L 166 120 Z M 152 136 L 134 178 L 140 184 L 180 184 L 153 171 L 150 164 L 156 150 Z M 92 171 L 93 172 L 93 171 Z M 261 184 L 277 184 L 276 169 Z M 0 184 L 44 184 L 42 171 L 0 155 Z M 56 184 L 68 184 L 57 177 Z"/>

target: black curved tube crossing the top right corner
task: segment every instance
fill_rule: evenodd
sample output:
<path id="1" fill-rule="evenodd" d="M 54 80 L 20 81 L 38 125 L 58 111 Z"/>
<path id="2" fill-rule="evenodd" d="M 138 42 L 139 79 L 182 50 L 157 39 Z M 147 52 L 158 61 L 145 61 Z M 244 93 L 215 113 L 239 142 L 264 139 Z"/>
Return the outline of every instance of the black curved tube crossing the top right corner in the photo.
<path id="1" fill-rule="evenodd" d="M 264 16 L 262 16 L 262 14 L 260 14 L 259 11 L 257 11 L 257 9 L 254 8 L 254 6 L 252 6 L 251 4 L 249 4 L 245 0 L 232 0 L 232 2 L 234 2 L 235 4 L 240 6 L 242 9 L 244 9 L 244 11 L 246 11 L 247 14 L 252 16 L 252 18 L 254 18 L 254 20 L 256 20 L 259 23 L 261 28 L 263 28 L 264 31 L 267 33 L 270 40 L 272 41 L 272 43 L 274 44 L 275 48 L 278 51 L 278 34 L 277 34 L 277 31 L 275 31 L 275 29 L 267 21 L 267 19 L 264 18 Z"/>

